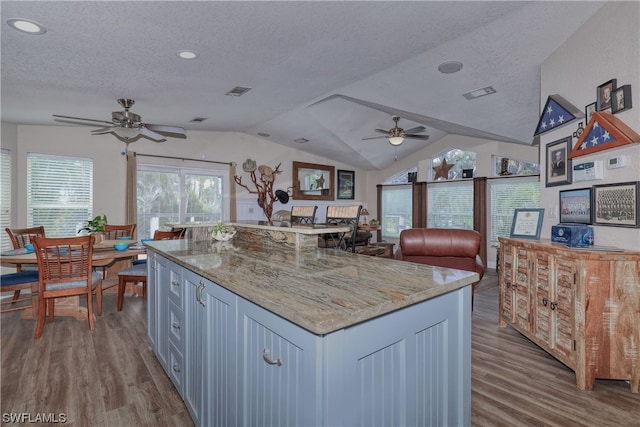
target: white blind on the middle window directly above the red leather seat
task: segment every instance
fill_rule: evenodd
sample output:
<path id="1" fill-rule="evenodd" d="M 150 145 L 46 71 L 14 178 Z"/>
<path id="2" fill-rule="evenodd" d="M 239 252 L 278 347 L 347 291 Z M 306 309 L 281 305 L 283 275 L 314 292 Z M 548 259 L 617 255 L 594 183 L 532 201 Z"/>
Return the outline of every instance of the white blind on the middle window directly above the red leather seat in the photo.
<path id="1" fill-rule="evenodd" d="M 428 184 L 427 227 L 473 230 L 473 181 Z"/>

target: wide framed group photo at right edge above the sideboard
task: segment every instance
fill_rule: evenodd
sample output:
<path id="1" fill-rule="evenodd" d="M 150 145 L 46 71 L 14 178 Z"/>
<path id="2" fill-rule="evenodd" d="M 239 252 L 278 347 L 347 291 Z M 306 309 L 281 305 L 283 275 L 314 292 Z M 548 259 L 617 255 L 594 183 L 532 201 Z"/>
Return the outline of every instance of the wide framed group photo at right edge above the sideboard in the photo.
<path id="1" fill-rule="evenodd" d="M 638 182 L 594 185 L 593 223 L 613 227 L 640 227 L 638 188 Z"/>

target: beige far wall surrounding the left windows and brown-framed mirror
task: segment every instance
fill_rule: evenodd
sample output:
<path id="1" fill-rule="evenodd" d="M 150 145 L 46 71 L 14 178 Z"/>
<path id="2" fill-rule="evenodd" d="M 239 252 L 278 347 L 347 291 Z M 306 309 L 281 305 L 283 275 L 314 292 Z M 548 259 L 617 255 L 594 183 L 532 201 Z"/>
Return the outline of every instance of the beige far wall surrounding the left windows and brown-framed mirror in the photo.
<path id="1" fill-rule="evenodd" d="M 109 222 L 123 223 L 125 218 L 126 160 L 122 152 L 125 150 L 125 144 L 112 135 L 91 135 L 90 130 L 89 127 L 18 125 L 15 158 L 19 173 L 13 183 L 14 194 L 26 194 L 26 167 L 27 153 L 29 152 L 92 158 L 94 160 L 94 215 L 106 214 Z M 265 164 L 274 169 L 281 163 L 282 173 L 277 176 L 274 188 L 282 190 L 286 190 L 292 185 L 293 161 L 333 165 L 336 170 L 355 171 L 355 200 L 341 200 L 335 203 L 366 204 L 366 175 L 362 170 L 243 133 L 189 131 L 187 139 L 169 138 L 163 143 L 140 139 L 130 144 L 129 150 L 179 158 L 235 162 L 237 164 L 236 173 L 243 176 L 245 183 L 251 183 L 249 174 L 242 170 L 242 163 L 247 158 L 256 160 L 258 165 Z M 138 162 L 228 170 L 224 165 L 149 157 L 139 157 Z M 250 186 L 250 188 L 252 187 Z M 252 203 L 255 205 L 253 214 L 248 217 L 241 217 L 240 213 L 245 212 L 249 215 L 250 209 L 239 209 L 239 220 L 265 219 L 262 209 L 258 207 L 255 194 L 249 194 L 244 188 L 237 187 L 236 195 L 239 205 L 251 206 Z M 296 201 L 292 199 L 286 205 L 276 201 L 274 212 L 280 209 L 290 210 L 293 204 L 296 204 Z M 309 202 L 304 201 L 298 204 L 309 204 Z M 320 203 L 315 204 L 320 205 Z M 16 201 L 15 209 L 15 226 L 26 226 L 27 202 L 25 197 Z M 324 212 L 319 207 L 318 212 L 321 211 Z"/>

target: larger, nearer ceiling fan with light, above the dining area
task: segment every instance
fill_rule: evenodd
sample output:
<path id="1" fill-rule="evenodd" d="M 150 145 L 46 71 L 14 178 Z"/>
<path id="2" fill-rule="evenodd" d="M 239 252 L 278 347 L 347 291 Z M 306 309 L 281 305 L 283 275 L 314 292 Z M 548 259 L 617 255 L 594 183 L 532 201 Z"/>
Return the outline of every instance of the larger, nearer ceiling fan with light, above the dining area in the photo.
<path id="1" fill-rule="evenodd" d="M 133 99 L 121 98 L 118 99 L 118 103 L 124 108 L 124 111 L 113 111 L 111 113 L 110 122 L 106 120 L 61 116 L 59 114 L 54 114 L 53 117 L 59 119 L 67 119 L 56 119 L 56 121 L 60 122 L 68 122 L 87 126 L 103 126 L 100 129 L 91 131 L 91 133 L 93 135 L 103 135 L 111 133 L 118 139 L 124 141 L 127 145 L 137 140 L 140 136 L 149 138 L 155 142 L 166 141 L 167 139 L 165 138 L 165 135 L 173 136 L 176 138 L 187 137 L 187 131 L 179 126 L 153 125 L 149 123 L 143 123 L 142 118 L 139 115 L 129 111 L 129 108 L 131 108 L 131 106 L 135 104 L 135 101 Z M 76 120 L 80 122 L 75 122 Z M 108 126 L 104 126 L 105 124 Z"/>

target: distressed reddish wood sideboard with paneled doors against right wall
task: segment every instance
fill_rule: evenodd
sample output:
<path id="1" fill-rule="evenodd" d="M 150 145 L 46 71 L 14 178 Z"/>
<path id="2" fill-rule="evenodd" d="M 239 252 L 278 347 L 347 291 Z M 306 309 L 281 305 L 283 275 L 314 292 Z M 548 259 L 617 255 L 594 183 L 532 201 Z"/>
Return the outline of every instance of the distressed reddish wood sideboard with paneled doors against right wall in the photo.
<path id="1" fill-rule="evenodd" d="M 512 326 L 576 373 L 640 391 L 640 252 L 500 238 L 501 327 Z"/>

